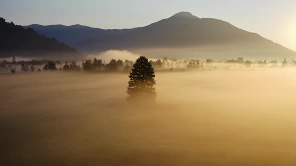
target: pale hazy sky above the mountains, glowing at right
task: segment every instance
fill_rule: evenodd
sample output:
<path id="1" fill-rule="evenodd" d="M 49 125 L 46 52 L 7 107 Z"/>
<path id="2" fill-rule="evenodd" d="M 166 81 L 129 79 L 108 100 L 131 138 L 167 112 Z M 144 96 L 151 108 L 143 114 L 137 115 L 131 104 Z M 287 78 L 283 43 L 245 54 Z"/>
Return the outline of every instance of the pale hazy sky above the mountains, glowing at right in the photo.
<path id="1" fill-rule="evenodd" d="M 223 19 L 296 50 L 296 0 L 0 0 L 16 24 L 131 28 L 180 12 Z"/>

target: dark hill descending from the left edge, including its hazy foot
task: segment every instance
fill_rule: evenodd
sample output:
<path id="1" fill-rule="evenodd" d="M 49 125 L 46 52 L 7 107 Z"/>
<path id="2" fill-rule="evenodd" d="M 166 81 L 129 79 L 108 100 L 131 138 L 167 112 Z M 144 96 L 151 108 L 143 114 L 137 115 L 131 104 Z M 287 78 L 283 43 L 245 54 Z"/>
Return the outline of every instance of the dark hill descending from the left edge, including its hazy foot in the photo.
<path id="1" fill-rule="evenodd" d="M 42 36 L 32 28 L 26 29 L 13 22 L 6 22 L 2 17 L 0 17 L 0 36 L 0 57 L 80 55 L 76 49 L 60 43 L 55 38 Z"/>

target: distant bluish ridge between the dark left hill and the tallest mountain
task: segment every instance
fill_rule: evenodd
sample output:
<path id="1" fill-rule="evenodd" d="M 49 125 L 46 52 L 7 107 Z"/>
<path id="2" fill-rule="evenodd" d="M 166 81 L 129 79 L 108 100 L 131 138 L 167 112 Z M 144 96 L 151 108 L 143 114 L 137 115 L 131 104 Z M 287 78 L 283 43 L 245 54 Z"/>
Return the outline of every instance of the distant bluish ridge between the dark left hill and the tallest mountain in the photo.
<path id="1" fill-rule="evenodd" d="M 90 38 L 98 38 L 112 34 L 121 34 L 136 29 L 101 29 L 80 24 L 70 26 L 31 24 L 23 27 L 33 28 L 41 35 L 45 35 L 47 37 L 55 37 L 60 42 L 64 42 L 69 45 L 74 45 Z"/>

